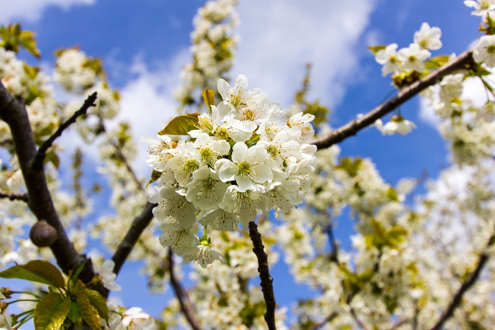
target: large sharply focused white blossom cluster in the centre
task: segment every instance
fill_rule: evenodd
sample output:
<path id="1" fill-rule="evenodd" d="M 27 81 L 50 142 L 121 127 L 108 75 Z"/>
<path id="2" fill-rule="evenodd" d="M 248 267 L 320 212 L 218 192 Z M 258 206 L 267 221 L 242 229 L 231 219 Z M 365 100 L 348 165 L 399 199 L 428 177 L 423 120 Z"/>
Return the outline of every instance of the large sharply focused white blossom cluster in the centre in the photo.
<path id="1" fill-rule="evenodd" d="M 147 162 L 162 172 L 153 214 L 161 221 L 160 242 L 172 246 L 184 261 L 206 266 L 221 256 L 196 236 L 199 223 L 208 229 L 235 231 L 258 212 L 289 211 L 302 203 L 310 184 L 316 146 L 312 115 L 298 113 L 281 120 L 282 107 L 259 89 L 248 89 L 238 76 L 231 87 L 217 84 L 223 101 L 198 117 L 191 141 L 168 136 L 150 141 Z"/>

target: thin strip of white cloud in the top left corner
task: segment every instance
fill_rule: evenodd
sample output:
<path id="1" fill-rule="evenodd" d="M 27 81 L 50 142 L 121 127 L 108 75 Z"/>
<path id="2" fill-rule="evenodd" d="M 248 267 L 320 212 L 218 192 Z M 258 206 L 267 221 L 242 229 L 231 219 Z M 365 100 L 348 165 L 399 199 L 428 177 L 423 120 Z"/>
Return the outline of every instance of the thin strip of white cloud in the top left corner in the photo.
<path id="1" fill-rule="evenodd" d="M 13 23 L 16 20 L 37 21 L 46 7 L 59 6 L 69 9 L 74 4 L 94 4 L 96 0 L 7 0 L 0 11 L 0 23 Z"/>

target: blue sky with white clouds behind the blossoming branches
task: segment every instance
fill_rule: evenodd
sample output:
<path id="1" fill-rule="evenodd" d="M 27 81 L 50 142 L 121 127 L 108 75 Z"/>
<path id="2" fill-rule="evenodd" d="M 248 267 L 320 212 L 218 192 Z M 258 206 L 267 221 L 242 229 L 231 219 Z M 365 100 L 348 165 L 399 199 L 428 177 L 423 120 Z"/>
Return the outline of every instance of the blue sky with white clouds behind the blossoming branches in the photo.
<path id="1" fill-rule="evenodd" d="M 259 87 L 272 100 L 288 105 L 299 87 L 305 63 L 311 61 L 310 97 L 332 108 L 331 125 L 338 127 L 357 113 L 371 110 L 392 90 L 390 79 L 381 76 L 381 67 L 366 46 L 396 42 L 407 47 L 414 31 L 426 21 L 443 31 L 444 47 L 434 54 L 460 53 L 480 35 L 479 18 L 471 16 L 462 2 L 240 0 L 241 43 L 231 76 L 245 74 L 251 87 Z M 38 33 L 42 64 L 47 70 L 53 51 L 61 47 L 77 45 L 101 57 L 111 85 L 121 89 L 120 118 L 134 124 L 136 136 L 152 136 L 161 129 L 157 123 L 165 124 L 175 114 L 170 93 L 179 83 L 181 66 L 191 59 L 187 50 L 192 18 L 203 3 L 6 0 L 0 23 L 19 21 L 23 28 Z M 445 143 L 420 116 L 418 99 L 402 106 L 401 112 L 418 124 L 412 134 L 382 137 L 370 128 L 342 143 L 342 154 L 371 157 L 384 179 L 393 184 L 402 177 L 420 177 L 424 171 L 435 178 L 448 165 Z M 142 115 L 145 113 L 149 116 Z M 141 152 L 144 155 L 144 146 Z M 134 166 L 143 176 L 150 171 L 144 157 Z M 87 173 L 91 175 L 91 169 Z M 337 236 L 345 247 L 351 232 L 352 226 L 341 221 Z M 138 305 L 157 316 L 170 295 L 139 294 L 146 287 L 146 279 L 136 277 L 140 267 L 138 263 L 126 265 L 118 279 L 126 289 L 116 295 L 127 306 Z M 304 287 L 285 289 L 293 283 L 283 261 L 273 268 L 273 277 L 280 305 L 290 306 L 307 296 Z"/>

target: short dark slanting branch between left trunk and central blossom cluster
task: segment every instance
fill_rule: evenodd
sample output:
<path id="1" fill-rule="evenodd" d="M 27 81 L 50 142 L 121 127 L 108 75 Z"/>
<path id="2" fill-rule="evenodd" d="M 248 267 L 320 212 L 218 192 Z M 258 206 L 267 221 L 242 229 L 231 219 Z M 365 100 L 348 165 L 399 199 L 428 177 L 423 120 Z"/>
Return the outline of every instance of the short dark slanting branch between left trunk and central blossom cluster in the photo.
<path id="1" fill-rule="evenodd" d="M 115 267 L 113 268 L 113 272 L 115 274 L 119 274 L 122 265 L 126 261 L 127 257 L 131 253 L 132 248 L 136 244 L 139 239 L 139 236 L 143 233 L 143 231 L 148 227 L 149 223 L 153 219 L 153 207 L 157 204 L 148 203 L 141 214 L 134 219 L 132 222 L 131 228 L 127 231 L 124 239 L 120 242 L 119 246 L 115 250 L 113 254 L 112 260 L 115 263 Z"/>

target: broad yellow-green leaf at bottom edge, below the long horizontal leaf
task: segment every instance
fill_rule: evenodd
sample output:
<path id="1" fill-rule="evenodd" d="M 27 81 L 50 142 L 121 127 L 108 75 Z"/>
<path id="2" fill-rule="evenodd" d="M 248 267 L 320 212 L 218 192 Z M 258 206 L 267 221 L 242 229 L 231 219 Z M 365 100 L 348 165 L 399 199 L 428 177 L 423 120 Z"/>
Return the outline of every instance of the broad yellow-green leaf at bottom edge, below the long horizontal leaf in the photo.
<path id="1" fill-rule="evenodd" d="M 69 312 L 70 298 L 51 292 L 41 298 L 34 310 L 35 330 L 59 330 Z"/>

